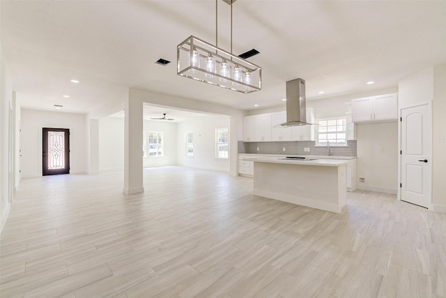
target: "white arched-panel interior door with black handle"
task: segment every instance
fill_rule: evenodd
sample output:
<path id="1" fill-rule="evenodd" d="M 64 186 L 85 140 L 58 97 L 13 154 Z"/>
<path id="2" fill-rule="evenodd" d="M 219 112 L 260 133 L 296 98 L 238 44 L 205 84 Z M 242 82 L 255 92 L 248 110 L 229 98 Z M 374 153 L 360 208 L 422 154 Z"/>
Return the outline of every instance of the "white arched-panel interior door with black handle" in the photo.
<path id="1" fill-rule="evenodd" d="M 401 109 L 401 200 L 431 207 L 431 105 Z"/>

